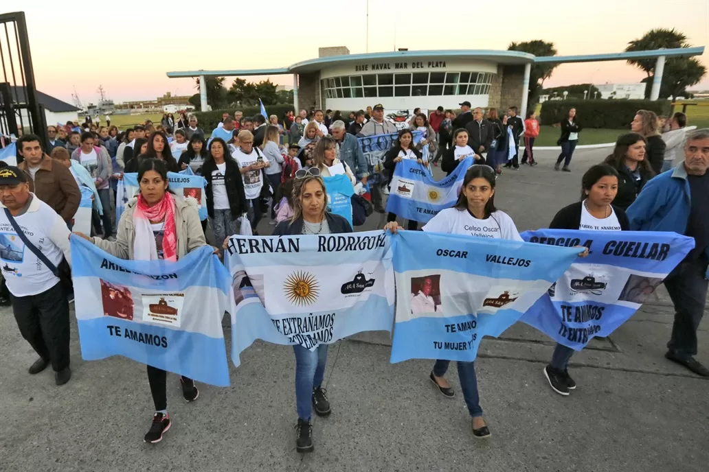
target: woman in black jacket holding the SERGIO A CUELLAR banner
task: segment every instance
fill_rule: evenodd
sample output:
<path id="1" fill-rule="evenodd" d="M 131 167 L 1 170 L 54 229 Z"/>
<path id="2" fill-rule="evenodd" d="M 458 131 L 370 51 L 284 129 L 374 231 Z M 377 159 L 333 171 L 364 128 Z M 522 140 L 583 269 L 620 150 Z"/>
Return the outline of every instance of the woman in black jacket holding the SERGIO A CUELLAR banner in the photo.
<path id="1" fill-rule="evenodd" d="M 564 207 L 552 219 L 549 229 L 581 229 L 584 231 L 628 231 L 630 221 L 625 211 L 611 205 L 618 192 L 618 172 L 608 164 L 591 166 L 581 178 L 581 201 Z M 586 257 L 586 248 L 580 256 Z M 544 368 L 549 386 L 559 395 L 569 395 L 576 382 L 569 376 L 571 347 L 557 343 L 552 360 Z"/>

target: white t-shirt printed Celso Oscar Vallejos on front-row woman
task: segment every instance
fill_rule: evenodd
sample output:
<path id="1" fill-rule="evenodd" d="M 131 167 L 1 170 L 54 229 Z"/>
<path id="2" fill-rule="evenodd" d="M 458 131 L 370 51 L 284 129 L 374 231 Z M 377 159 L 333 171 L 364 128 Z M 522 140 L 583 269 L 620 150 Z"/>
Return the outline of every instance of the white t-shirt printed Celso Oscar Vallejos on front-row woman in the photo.
<path id="1" fill-rule="evenodd" d="M 423 231 L 522 241 L 515 222 L 500 210 L 493 212 L 488 219 L 477 219 L 467 209 L 446 208 L 430 219 Z"/>

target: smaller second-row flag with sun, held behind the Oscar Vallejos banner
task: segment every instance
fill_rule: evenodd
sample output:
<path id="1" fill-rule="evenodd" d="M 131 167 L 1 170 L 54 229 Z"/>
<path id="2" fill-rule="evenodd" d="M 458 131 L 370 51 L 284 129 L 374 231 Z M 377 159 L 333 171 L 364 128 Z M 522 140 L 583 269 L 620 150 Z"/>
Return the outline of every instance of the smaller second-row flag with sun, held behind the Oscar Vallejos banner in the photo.
<path id="1" fill-rule="evenodd" d="M 403 219 L 428 223 L 442 209 L 455 205 L 465 173 L 473 162 L 473 158 L 467 157 L 453 173 L 436 182 L 420 163 L 403 159 L 394 168 L 386 211 Z"/>

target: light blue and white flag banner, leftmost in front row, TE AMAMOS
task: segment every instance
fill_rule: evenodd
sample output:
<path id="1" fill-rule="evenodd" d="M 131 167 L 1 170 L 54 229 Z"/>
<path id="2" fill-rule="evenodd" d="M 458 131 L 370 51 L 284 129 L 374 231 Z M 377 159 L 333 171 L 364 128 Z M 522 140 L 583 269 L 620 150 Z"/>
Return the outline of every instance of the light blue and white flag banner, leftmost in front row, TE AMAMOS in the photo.
<path id="1" fill-rule="evenodd" d="M 221 326 L 229 277 L 213 248 L 199 248 L 177 263 L 122 260 L 72 235 L 71 251 L 84 359 L 122 355 L 229 385 Z"/>

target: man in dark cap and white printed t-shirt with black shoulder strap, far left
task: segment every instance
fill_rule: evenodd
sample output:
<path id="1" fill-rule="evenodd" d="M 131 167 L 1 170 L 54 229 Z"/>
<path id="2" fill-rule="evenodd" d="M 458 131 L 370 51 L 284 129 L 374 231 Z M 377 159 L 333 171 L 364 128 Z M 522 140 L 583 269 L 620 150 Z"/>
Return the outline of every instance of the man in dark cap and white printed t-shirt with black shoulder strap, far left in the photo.
<path id="1" fill-rule="evenodd" d="M 51 363 L 56 384 L 63 385 L 72 376 L 67 294 L 59 277 L 23 242 L 11 221 L 54 267 L 65 256 L 69 260 L 67 224 L 30 192 L 28 175 L 13 166 L 0 169 L 2 273 L 20 333 L 40 356 L 29 373 L 38 374 Z"/>

